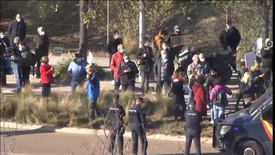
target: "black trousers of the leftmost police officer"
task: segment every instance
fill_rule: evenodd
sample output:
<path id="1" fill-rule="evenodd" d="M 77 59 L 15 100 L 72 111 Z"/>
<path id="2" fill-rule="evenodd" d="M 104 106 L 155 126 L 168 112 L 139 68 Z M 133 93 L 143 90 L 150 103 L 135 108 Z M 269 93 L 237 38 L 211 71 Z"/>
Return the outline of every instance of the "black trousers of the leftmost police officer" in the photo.
<path id="1" fill-rule="evenodd" d="M 114 148 L 115 148 L 115 143 L 117 142 L 118 144 L 118 153 L 120 155 L 123 154 L 123 134 L 124 131 L 122 129 L 122 126 L 117 126 L 117 127 L 110 127 L 110 143 L 109 143 L 109 147 L 108 150 L 109 152 L 111 152 L 112 154 L 114 153 Z M 118 137 L 117 137 L 118 136 Z M 116 138 L 117 137 L 117 138 Z"/>

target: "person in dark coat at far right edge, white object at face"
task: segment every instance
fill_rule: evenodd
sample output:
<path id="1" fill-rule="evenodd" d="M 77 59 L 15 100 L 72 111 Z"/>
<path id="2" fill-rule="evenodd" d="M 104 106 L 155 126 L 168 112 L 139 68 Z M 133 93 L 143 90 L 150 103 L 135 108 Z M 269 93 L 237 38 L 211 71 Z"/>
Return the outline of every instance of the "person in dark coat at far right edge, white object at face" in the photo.
<path id="1" fill-rule="evenodd" d="M 271 39 L 267 38 L 265 40 L 265 47 L 262 47 L 261 49 L 261 56 L 262 56 L 262 73 L 266 74 L 266 80 L 265 80 L 265 86 L 270 88 L 273 84 L 273 42 Z M 268 86 L 268 80 L 269 80 L 269 86 Z"/>

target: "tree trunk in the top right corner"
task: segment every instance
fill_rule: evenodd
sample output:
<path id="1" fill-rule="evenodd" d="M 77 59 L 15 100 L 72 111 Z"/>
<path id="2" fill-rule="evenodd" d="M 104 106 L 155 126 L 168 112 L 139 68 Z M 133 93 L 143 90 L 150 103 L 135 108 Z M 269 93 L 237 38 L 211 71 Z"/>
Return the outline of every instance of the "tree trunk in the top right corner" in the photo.
<path id="1" fill-rule="evenodd" d="M 269 37 L 269 9 L 270 5 L 267 5 L 267 1 L 262 1 L 262 40 L 265 42 L 265 39 Z"/>

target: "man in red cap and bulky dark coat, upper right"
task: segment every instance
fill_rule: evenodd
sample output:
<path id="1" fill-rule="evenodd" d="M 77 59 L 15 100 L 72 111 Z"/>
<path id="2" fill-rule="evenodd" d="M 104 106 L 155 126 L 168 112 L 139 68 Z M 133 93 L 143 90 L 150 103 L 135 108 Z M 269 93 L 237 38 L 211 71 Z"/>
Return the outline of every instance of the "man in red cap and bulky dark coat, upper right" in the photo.
<path id="1" fill-rule="evenodd" d="M 227 20 L 226 27 L 222 29 L 219 39 L 224 50 L 227 50 L 228 46 L 231 48 L 231 53 L 229 55 L 231 57 L 230 59 L 232 59 L 231 66 L 233 70 L 236 71 L 237 47 L 241 41 L 241 34 L 237 28 L 232 26 L 231 20 Z"/>

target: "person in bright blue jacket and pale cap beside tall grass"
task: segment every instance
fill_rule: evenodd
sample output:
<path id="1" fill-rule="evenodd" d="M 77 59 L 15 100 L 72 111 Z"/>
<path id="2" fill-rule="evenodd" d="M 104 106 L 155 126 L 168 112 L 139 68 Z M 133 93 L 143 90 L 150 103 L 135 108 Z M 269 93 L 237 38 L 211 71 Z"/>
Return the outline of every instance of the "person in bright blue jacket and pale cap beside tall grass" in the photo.
<path id="1" fill-rule="evenodd" d="M 97 109 L 97 100 L 100 90 L 99 75 L 93 70 L 93 67 L 91 65 L 87 65 L 85 69 L 87 69 L 86 78 L 88 80 L 86 85 L 86 95 L 89 99 L 88 112 L 90 119 L 94 120 L 95 113 L 97 116 L 100 115 L 100 112 Z"/>

